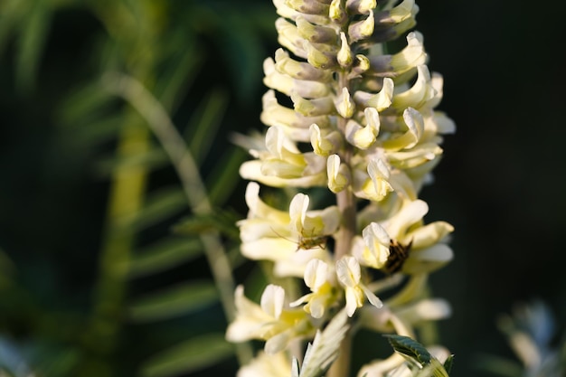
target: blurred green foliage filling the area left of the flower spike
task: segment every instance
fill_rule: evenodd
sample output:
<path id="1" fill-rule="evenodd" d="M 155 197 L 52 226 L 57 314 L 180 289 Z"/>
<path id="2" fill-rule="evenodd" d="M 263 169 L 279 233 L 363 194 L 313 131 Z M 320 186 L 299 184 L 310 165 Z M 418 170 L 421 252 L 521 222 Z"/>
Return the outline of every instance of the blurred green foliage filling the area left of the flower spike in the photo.
<path id="1" fill-rule="evenodd" d="M 7 173 L 18 180 L 3 185 L 3 203 L 25 213 L 3 219 L 6 370 L 24 371 L 16 358 L 29 368 L 14 373 L 41 376 L 235 370 L 199 236 L 220 229 L 227 236 L 212 237 L 236 250 L 227 202 L 245 153 L 227 134 L 257 123 L 238 119 L 253 111 L 274 17 L 246 2 L 0 3 L 3 138 L 16 141 L 3 162 L 17 161 Z M 149 105 L 122 93 L 120 77 Z M 152 125 L 159 111 L 200 165 L 189 181 L 204 182 L 214 212 L 195 209 L 171 140 Z M 19 190 L 27 203 L 8 203 Z"/>

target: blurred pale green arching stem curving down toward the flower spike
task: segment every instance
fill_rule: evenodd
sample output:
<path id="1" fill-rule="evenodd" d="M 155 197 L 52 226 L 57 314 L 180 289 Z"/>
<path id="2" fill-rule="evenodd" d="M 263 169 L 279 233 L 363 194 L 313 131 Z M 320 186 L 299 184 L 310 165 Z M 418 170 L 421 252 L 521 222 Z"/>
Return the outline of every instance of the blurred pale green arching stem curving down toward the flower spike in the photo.
<path id="1" fill-rule="evenodd" d="M 125 74 L 108 73 L 103 77 L 103 84 L 110 92 L 126 99 L 146 119 L 147 125 L 171 159 L 192 211 L 197 214 L 212 212 L 198 166 L 165 108 L 139 81 Z M 207 231 L 201 234 L 201 240 L 212 276 L 220 290 L 224 313 L 228 321 L 232 321 L 236 312 L 233 300 L 234 281 L 220 235 L 217 231 Z M 240 363 L 250 361 L 250 344 L 239 344 L 237 352 Z"/>

